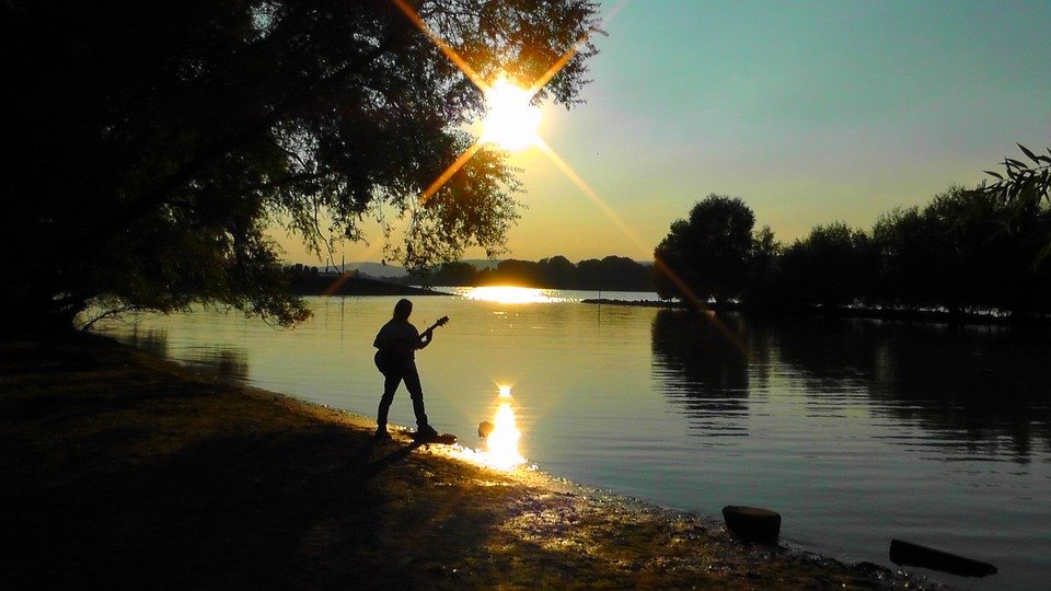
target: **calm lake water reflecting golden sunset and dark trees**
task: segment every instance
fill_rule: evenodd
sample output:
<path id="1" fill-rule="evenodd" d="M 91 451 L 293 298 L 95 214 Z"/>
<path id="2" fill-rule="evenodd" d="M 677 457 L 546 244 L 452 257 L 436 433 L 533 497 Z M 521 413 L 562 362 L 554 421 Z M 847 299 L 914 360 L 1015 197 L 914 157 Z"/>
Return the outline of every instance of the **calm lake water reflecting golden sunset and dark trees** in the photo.
<path id="1" fill-rule="evenodd" d="M 1046 329 L 866 320 L 762 321 L 585 304 L 420 297 L 427 412 L 477 445 L 511 386 L 521 453 L 541 470 L 663 507 L 782 513 L 782 538 L 847 561 L 892 537 L 990 561 L 973 589 L 1051 577 L 1051 340 Z M 517 292 L 520 296 L 521 292 Z M 554 296 L 554 299 L 547 298 Z M 635 294 L 602 293 L 632 299 Z M 396 298 L 311 299 L 292 331 L 238 313 L 108 322 L 100 332 L 253 385 L 373 416 L 372 338 Z M 414 424 L 404 389 L 392 422 Z"/>

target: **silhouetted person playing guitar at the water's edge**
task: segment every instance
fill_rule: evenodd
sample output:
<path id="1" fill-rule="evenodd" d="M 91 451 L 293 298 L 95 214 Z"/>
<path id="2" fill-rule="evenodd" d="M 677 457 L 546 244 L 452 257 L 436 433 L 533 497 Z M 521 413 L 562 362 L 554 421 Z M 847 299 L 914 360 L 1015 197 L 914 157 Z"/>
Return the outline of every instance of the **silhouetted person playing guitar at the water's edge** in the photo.
<path id="1" fill-rule="evenodd" d="M 416 414 L 415 439 L 428 441 L 438 437 L 438 431 L 427 422 L 427 413 L 424 410 L 424 389 L 419 383 L 419 372 L 416 370 L 416 350 L 430 345 L 435 333 L 431 327 L 420 335 L 419 331 L 408 322 L 412 313 L 413 302 L 406 299 L 399 300 L 394 304 L 394 314 L 391 320 L 380 328 L 376 340 L 372 341 L 372 346 L 378 349 L 376 366 L 383 374 L 383 396 L 380 398 L 380 408 L 376 417 L 377 439 L 391 438 L 386 430 L 386 416 L 390 413 L 391 403 L 394 402 L 394 392 L 403 381 L 413 401 L 413 412 Z"/>

